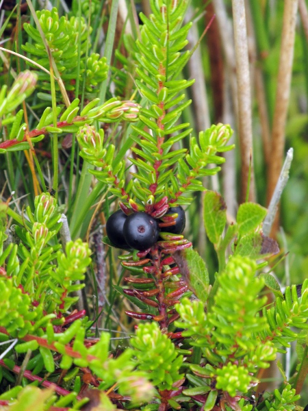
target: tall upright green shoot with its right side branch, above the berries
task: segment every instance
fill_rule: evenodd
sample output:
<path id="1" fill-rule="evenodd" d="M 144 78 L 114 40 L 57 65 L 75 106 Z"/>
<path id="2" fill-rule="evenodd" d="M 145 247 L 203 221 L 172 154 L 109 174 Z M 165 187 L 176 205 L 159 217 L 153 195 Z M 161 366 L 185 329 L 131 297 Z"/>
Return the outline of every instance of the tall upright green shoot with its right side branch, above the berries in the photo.
<path id="1" fill-rule="evenodd" d="M 144 102 L 140 121 L 132 126 L 134 133 L 130 135 L 131 140 L 140 147 L 131 147 L 137 157 L 129 159 L 138 173 L 131 173 L 133 179 L 127 186 L 123 187 L 121 183 L 121 186 L 112 186 L 110 190 L 126 206 L 131 206 L 130 199 L 134 208 L 139 210 L 143 210 L 150 197 L 151 203 L 164 196 L 172 203 L 190 203 L 183 193 L 204 190 L 198 177 L 217 173 L 220 167 L 206 169 L 206 166 L 221 164 L 224 158 L 216 153 L 233 148 L 227 146 L 233 133 L 231 128 L 218 124 L 201 132 L 198 141 L 191 137 L 189 152 L 187 149 L 170 150 L 172 145 L 192 132 L 188 128 L 189 123 L 177 123 L 183 110 L 191 103 L 190 100 L 185 101 L 183 91 L 194 82 L 177 79 L 190 57 L 190 51 L 182 51 L 188 43 L 186 37 L 191 27 L 191 23 L 182 27 L 187 6 L 186 0 L 177 0 L 172 4 L 152 0 L 153 14 L 149 18 L 140 14 L 144 23 L 140 28 L 140 38 L 136 42 L 125 38 L 129 53 L 138 64 L 136 85 Z M 128 68 L 128 60 L 120 53 L 117 57 Z M 88 161 L 97 165 L 93 160 Z M 101 181 L 113 183 L 100 171 L 94 171 L 94 174 Z M 113 175 L 116 175 L 115 171 Z"/>

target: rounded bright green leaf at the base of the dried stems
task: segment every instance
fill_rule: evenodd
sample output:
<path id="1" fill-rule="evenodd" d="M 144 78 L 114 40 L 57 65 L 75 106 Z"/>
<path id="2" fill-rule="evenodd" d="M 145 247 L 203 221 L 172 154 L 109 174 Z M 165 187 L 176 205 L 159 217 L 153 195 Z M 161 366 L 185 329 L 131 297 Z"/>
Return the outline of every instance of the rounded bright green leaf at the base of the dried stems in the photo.
<path id="1" fill-rule="evenodd" d="M 241 204 L 238 209 L 238 216 L 236 217 L 240 236 L 249 234 L 255 230 L 264 220 L 266 213 L 266 208 L 259 206 L 259 204 Z"/>

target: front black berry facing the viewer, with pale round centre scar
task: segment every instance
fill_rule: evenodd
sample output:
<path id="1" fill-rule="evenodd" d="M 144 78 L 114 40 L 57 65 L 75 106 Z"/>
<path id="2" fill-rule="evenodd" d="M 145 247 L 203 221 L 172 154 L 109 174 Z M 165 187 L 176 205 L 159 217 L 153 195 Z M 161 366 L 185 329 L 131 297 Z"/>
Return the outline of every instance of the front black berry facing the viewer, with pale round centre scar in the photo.
<path id="1" fill-rule="evenodd" d="M 158 239 L 158 223 L 145 212 L 134 212 L 127 217 L 123 233 L 129 247 L 144 251 Z"/>

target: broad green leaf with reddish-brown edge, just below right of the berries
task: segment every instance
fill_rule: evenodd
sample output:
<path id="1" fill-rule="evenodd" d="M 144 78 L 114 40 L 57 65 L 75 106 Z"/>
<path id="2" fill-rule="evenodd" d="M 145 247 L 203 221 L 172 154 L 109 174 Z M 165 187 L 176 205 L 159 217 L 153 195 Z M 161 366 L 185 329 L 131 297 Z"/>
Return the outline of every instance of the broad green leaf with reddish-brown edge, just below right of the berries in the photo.
<path id="1" fill-rule="evenodd" d="M 209 295 L 209 273 L 205 262 L 194 249 L 177 251 L 172 256 L 179 266 L 179 270 L 188 288 L 194 292 L 203 303 Z"/>

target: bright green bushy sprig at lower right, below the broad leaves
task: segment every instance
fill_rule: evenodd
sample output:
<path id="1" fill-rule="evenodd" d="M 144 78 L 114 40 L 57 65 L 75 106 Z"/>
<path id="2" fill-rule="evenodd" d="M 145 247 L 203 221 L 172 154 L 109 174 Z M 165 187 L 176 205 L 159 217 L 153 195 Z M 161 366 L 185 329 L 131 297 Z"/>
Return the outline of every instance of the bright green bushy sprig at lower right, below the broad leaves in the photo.
<path id="1" fill-rule="evenodd" d="M 245 393 L 255 380 L 253 375 L 257 368 L 268 367 L 276 357 L 272 343 L 261 342 L 257 336 L 268 329 L 268 323 L 266 318 L 259 316 L 266 299 L 258 298 L 264 283 L 255 277 L 256 269 L 253 260 L 233 257 L 218 275 L 215 305 L 207 314 L 201 301 L 190 303 L 183 299 L 181 305 L 176 306 L 182 320 L 176 321 L 176 325 L 185 329 L 183 336 L 191 336 L 191 345 L 201 347 L 203 356 L 214 366 L 225 364 L 224 371 L 231 373 L 230 367 L 234 365 L 235 377 L 224 379 L 224 372 L 218 372 L 219 368 L 215 371 L 213 367 L 202 370 L 196 365 L 191 366 L 192 371 L 197 375 L 206 373 L 208 377 L 217 377 L 218 388 L 227 390 L 231 396 L 236 390 Z"/>

